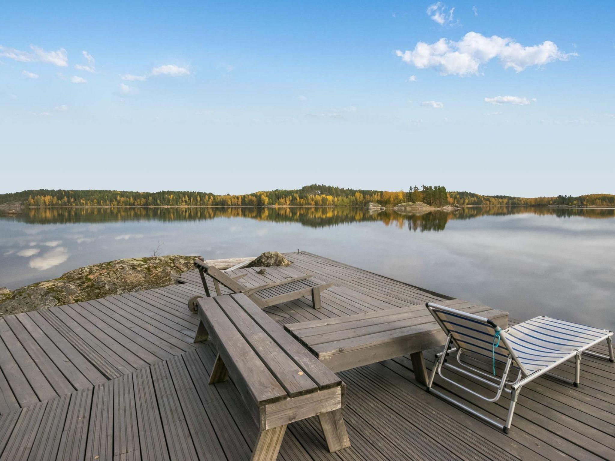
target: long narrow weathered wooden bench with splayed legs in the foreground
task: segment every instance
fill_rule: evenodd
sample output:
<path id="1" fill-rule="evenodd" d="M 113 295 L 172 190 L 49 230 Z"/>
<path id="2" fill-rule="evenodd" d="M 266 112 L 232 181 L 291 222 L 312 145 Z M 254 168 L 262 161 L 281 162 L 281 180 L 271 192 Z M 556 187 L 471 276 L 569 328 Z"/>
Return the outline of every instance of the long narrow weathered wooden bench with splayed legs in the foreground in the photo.
<path id="1" fill-rule="evenodd" d="M 344 383 L 244 294 L 197 299 L 194 342 L 217 350 L 210 384 L 230 376 L 260 433 L 252 460 L 275 460 L 289 423 L 319 416 L 330 452 L 350 446 Z"/>

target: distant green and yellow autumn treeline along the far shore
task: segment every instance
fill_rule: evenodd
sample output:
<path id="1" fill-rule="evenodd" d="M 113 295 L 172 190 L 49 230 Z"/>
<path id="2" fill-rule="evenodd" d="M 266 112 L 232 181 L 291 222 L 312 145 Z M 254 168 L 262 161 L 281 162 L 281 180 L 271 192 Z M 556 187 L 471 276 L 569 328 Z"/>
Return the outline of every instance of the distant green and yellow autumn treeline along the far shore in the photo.
<path id="1" fill-rule="evenodd" d="M 369 202 L 397 205 L 402 202 L 425 202 L 428 205 L 571 205 L 577 207 L 614 207 L 615 195 L 589 194 L 573 197 L 509 197 L 480 195 L 473 192 L 446 191 L 444 186 L 413 186 L 408 191 L 371 191 L 312 184 L 301 189 L 261 191 L 245 195 L 217 195 L 193 191 L 68 191 L 37 189 L 14 194 L 0 194 L 1 203 L 19 202 L 30 207 L 259 207 L 265 205 L 362 206 Z"/>

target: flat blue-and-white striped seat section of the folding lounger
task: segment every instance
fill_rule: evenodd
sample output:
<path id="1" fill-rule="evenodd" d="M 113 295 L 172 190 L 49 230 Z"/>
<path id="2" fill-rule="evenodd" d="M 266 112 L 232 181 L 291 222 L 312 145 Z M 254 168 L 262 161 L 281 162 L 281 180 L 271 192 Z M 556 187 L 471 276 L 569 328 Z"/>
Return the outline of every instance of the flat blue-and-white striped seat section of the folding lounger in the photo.
<path id="1" fill-rule="evenodd" d="M 506 339 L 528 374 L 601 341 L 609 331 L 550 317 L 536 317 L 511 326 Z"/>

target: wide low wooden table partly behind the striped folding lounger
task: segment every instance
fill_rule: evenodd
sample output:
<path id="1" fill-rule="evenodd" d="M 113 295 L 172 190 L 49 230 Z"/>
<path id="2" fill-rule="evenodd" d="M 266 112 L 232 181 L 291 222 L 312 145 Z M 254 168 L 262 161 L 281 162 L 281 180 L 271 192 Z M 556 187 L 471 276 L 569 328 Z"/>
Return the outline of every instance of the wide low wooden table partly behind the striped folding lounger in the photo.
<path id="1" fill-rule="evenodd" d="M 508 313 L 461 299 L 440 304 L 508 325 Z M 343 371 L 410 354 L 415 377 L 427 384 L 423 351 L 442 346 L 446 335 L 424 304 L 284 325 L 331 371 Z"/>

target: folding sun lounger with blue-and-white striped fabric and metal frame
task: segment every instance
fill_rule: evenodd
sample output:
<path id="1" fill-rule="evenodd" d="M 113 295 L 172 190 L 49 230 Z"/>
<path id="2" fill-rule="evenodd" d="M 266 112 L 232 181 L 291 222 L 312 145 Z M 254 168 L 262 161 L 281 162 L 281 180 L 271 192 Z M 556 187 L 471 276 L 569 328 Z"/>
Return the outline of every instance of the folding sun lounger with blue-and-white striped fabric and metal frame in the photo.
<path id="1" fill-rule="evenodd" d="M 432 302 L 427 302 L 426 306 L 438 325 L 448 335 L 443 351 L 436 356 L 437 360 L 429 376 L 429 382 L 427 382 L 427 392 L 434 393 L 473 416 L 501 428 L 506 433 L 510 429 L 517 397 L 522 387 L 530 381 L 542 374 L 547 374 L 578 387 L 582 353 L 613 362 L 612 331 L 544 316 L 518 323 L 507 329 L 501 329 L 488 318 L 478 317 L 478 315 Z M 588 350 L 593 345 L 605 340 L 609 352 L 608 356 Z M 447 359 L 447 356 L 454 352 L 456 352 L 458 364 L 452 364 L 450 358 Z M 462 361 L 464 352 L 477 353 L 490 358 L 493 374 Z M 574 358 L 576 365 L 574 381 L 549 372 L 571 358 Z M 496 361 L 504 363 L 501 377 L 496 377 Z M 444 367 L 453 369 L 470 380 L 477 380 L 481 384 L 493 387 L 495 395 L 493 397 L 482 395 L 443 376 L 442 368 Z M 517 377 L 514 380 L 509 379 L 509 375 L 512 375 L 511 368 L 517 370 Z M 488 402 L 497 401 L 502 392 L 510 393 L 510 406 L 504 425 L 469 408 L 461 401 L 435 390 L 432 386 L 436 373 L 449 384 L 453 384 Z"/>

